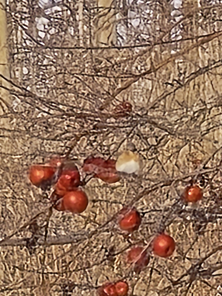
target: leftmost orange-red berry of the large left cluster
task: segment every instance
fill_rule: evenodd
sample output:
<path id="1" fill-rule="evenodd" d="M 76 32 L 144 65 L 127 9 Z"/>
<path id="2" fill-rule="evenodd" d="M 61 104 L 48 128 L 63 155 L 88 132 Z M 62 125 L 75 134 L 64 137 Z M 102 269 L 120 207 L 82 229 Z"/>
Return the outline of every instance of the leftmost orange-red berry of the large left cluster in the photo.
<path id="1" fill-rule="evenodd" d="M 54 168 L 49 165 L 32 165 L 29 170 L 29 179 L 33 185 L 38 186 L 44 181 L 49 181 L 54 173 Z"/>

